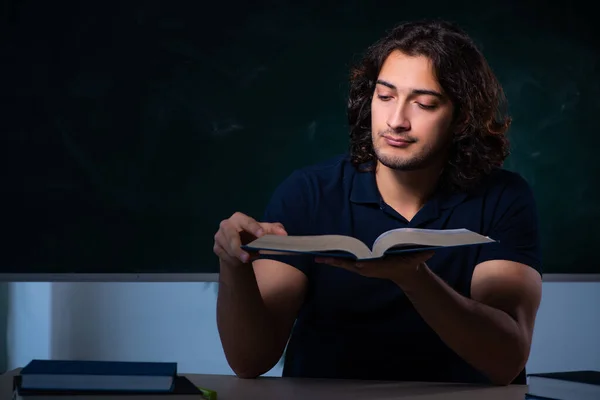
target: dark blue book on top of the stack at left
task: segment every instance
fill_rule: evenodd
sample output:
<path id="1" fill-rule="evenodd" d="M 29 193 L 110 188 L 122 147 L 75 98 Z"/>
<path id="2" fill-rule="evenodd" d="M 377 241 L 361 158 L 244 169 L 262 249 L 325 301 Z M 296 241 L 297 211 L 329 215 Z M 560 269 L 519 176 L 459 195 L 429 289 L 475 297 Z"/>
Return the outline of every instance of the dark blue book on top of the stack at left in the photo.
<path id="1" fill-rule="evenodd" d="M 177 363 L 32 360 L 20 375 L 23 389 L 169 392 Z"/>

